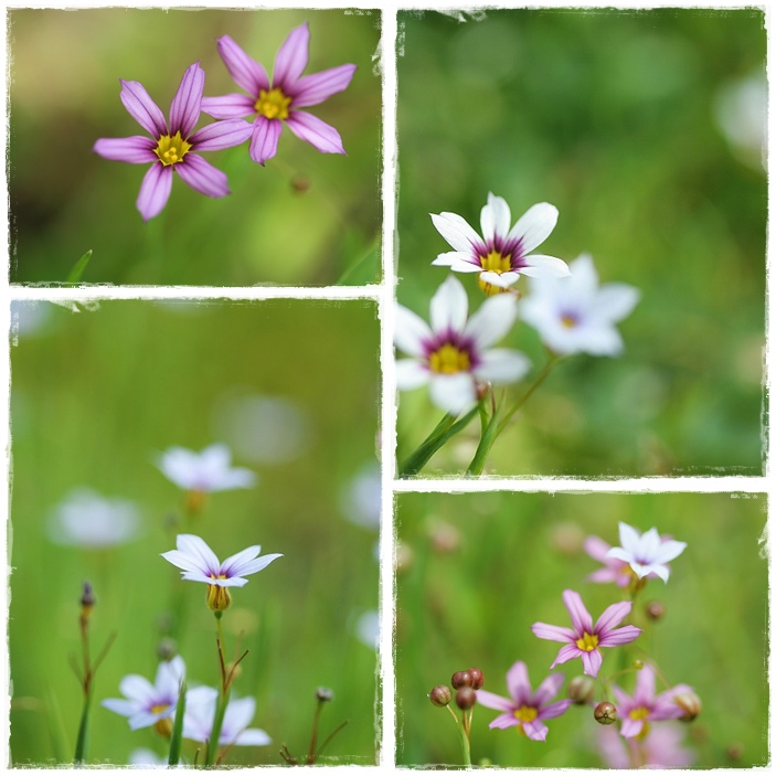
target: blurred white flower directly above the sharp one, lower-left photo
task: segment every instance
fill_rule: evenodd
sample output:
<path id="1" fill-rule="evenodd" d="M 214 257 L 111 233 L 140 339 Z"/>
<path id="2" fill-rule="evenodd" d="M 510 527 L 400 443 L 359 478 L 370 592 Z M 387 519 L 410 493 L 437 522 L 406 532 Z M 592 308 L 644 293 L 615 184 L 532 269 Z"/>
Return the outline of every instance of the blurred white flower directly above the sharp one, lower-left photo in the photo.
<path id="1" fill-rule="evenodd" d="M 211 445 L 202 453 L 171 447 L 157 466 L 169 480 L 183 490 L 206 493 L 214 490 L 252 488 L 257 476 L 249 469 L 231 468 L 232 454 L 226 445 Z"/>

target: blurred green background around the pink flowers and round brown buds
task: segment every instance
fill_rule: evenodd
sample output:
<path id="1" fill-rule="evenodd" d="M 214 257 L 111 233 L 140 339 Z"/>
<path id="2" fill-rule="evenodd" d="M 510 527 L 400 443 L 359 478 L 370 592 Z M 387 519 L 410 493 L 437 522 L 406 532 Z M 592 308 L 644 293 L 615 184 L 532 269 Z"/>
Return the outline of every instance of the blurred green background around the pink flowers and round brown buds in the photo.
<path id="1" fill-rule="evenodd" d="M 656 527 L 688 548 L 671 562 L 667 585 L 652 580 L 640 594 L 641 604 L 662 602 L 665 618 L 633 648 L 602 650 L 600 676 L 612 676 L 620 660 L 641 657 L 637 647 L 646 649 L 669 683 L 690 684 L 702 699 L 701 715 L 682 726 L 697 766 L 765 765 L 768 580 L 758 545 L 765 509 L 764 496 L 746 493 L 400 495 L 398 762 L 463 762 L 453 720 L 427 698 L 436 684 L 449 685 L 455 671 L 478 667 L 485 689 L 506 697 L 507 671 L 523 660 L 536 688 L 562 645 L 534 637 L 531 625 L 568 625 L 564 589 L 577 591 L 594 619 L 623 599 L 615 585 L 585 581 L 600 565 L 582 550 L 589 534 L 617 545 L 621 520 L 639 531 Z M 582 666 L 573 660 L 555 670 L 571 679 Z M 633 691 L 630 677 L 618 683 Z M 658 688 L 665 689 L 660 682 Z M 564 692 L 565 685 L 559 700 Z M 497 715 L 475 708 L 474 763 L 603 765 L 595 747 L 600 729 L 591 709 L 572 706 L 549 721 L 545 743 L 488 730 Z"/>

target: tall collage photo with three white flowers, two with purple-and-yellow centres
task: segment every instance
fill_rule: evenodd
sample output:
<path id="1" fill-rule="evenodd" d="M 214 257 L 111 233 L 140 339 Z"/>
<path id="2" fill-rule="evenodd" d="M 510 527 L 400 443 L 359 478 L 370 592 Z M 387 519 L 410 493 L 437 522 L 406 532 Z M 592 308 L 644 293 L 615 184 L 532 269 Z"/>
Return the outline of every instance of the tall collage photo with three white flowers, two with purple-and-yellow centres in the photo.
<path id="1" fill-rule="evenodd" d="M 755 8 L 398 13 L 401 477 L 764 472 L 765 54 Z"/>

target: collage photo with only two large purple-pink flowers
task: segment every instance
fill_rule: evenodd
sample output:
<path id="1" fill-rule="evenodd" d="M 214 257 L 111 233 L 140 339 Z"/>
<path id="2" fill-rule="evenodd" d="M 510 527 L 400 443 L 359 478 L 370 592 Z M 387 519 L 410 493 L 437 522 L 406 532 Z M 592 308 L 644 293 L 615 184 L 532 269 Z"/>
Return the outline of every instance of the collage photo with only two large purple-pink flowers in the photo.
<path id="1" fill-rule="evenodd" d="M 380 280 L 379 10 L 13 9 L 8 26 L 11 283 Z"/>

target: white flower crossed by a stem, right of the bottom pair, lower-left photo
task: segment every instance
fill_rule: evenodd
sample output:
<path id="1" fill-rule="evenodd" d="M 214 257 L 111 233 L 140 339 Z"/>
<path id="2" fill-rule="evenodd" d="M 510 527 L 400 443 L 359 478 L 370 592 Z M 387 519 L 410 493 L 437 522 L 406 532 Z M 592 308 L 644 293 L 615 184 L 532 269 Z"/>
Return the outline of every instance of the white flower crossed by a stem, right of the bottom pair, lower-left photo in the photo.
<path id="1" fill-rule="evenodd" d="M 205 743 L 213 730 L 219 691 L 210 687 L 195 687 L 187 693 L 183 715 L 183 737 Z M 256 713 L 253 698 L 232 700 L 226 705 L 219 736 L 220 746 L 266 746 L 272 738 L 258 727 L 248 727 Z"/>

